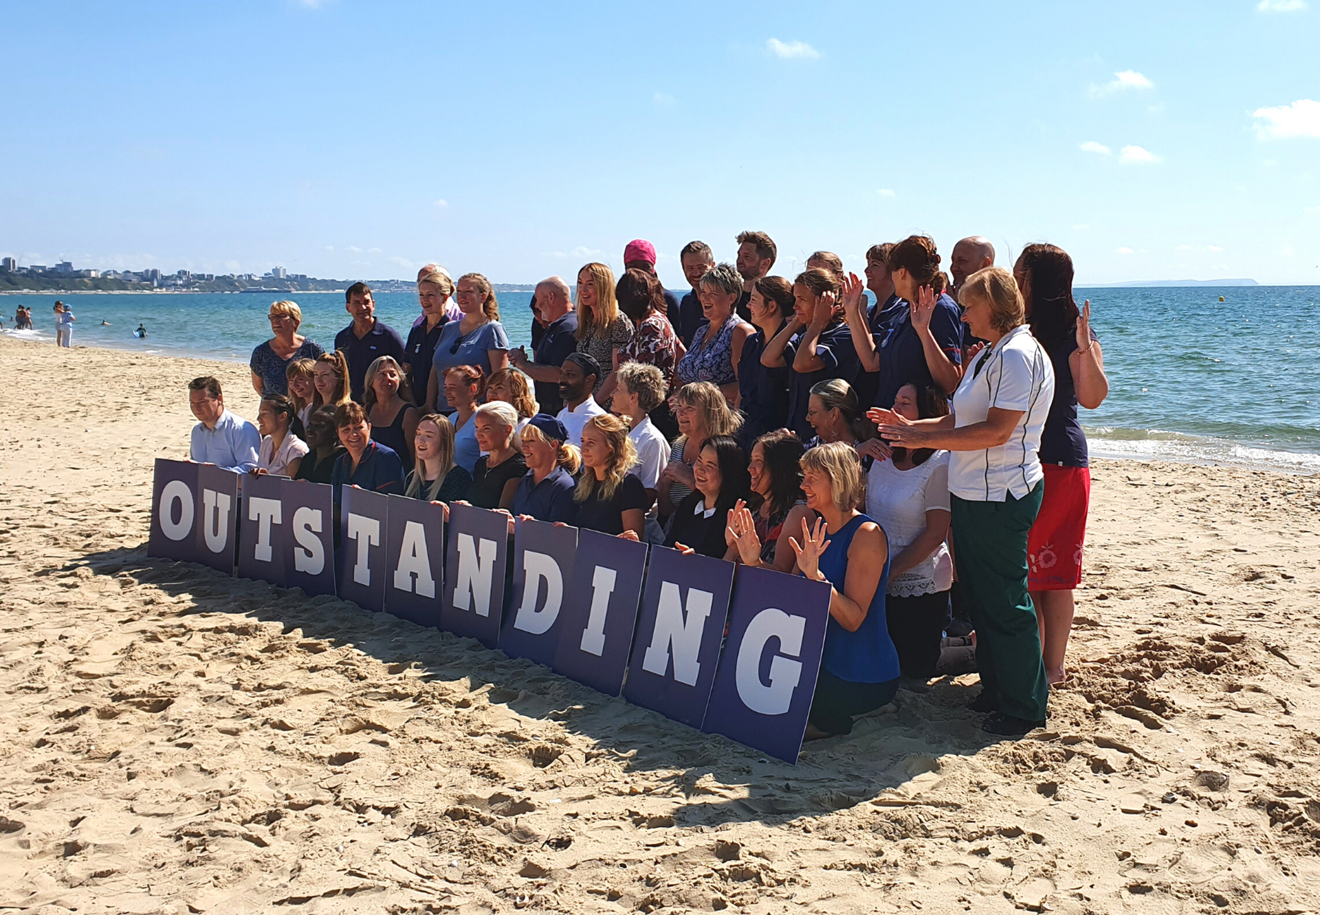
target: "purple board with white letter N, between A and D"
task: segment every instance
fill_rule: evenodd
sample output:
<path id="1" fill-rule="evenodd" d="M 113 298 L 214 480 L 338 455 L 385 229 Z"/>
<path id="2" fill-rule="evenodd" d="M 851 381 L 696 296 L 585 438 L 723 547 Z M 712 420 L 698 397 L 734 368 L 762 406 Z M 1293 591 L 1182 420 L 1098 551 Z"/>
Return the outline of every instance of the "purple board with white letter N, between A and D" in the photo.
<path id="1" fill-rule="evenodd" d="M 494 649 L 504 609 L 507 562 L 508 516 L 471 505 L 450 505 L 440 628 Z"/>

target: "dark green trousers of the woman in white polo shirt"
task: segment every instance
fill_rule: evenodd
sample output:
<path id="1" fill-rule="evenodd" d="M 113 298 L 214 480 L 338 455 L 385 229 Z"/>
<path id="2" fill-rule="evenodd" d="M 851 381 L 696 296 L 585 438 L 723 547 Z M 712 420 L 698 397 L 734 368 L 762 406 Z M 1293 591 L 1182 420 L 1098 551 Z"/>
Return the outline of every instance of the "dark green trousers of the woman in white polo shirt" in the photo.
<path id="1" fill-rule="evenodd" d="M 1044 720 L 1049 697 L 1036 608 L 1027 592 L 1027 533 L 1044 490 L 1038 483 L 1022 498 L 1003 502 L 950 496 L 953 555 L 977 629 L 981 684 L 1001 712 L 1027 721 Z"/>

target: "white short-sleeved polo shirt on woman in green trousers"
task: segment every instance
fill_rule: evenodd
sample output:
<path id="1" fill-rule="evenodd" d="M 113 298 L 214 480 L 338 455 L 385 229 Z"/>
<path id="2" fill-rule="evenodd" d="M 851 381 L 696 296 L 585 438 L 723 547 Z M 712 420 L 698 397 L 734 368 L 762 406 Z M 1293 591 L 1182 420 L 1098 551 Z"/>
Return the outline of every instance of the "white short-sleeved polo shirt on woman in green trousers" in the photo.
<path id="1" fill-rule="evenodd" d="M 956 425 L 985 422 L 990 407 L 1022 410 L 1023 417 L 997 448 L 950 452 L 949 492 L 973 502 L 1003 502 L 1031 492 L 1044 479 L 1040 432 L 1053 399 L 1053 365 L 1026 324 L 977 355 L 953 394 Z"/>

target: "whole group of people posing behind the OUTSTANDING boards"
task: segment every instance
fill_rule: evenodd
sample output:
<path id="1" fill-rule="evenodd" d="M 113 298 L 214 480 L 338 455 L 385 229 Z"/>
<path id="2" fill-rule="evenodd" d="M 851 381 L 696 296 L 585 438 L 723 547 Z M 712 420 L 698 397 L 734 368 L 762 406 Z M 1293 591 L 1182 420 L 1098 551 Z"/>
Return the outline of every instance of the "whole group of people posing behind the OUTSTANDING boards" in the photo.
<path id="1" fill-rule="evenodd" d="M 591 262 L 576 294 L 541 281 L 531 352 L 486 277 L 436 264 L 407 339 L 366 283 L 330 352 L 276 302 L 251 363 L 259 428 L 197 378 L 193 459 L 330 483 L 337 504 L 350 484 L 828 581 L 809 736 L 932 676 L 958 609 L 983 728 L 1039 726 L 1081 577 L 1077 409 L 1107 393 L 1071 258 L 1035 244 L 1010 272 L 974 236 L 949 277 L 911 236 L 874 245 L 865 278 L 822 251 L 789 280 L 764 232 L 737 245 L 733 262 L 684 247 L 681 298 L 644 240 L 620 277 Z"/>

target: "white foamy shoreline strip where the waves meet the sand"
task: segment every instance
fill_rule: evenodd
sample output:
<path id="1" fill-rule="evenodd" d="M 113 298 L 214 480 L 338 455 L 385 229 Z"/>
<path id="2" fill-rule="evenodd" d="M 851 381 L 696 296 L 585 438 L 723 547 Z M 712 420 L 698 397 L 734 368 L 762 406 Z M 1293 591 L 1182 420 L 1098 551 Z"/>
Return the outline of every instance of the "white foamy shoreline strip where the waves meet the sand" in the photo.
<path id="1" fill-rule="evenodd" d="M 33 345 L 53 347 L 54 338 L 46 336 L 44 331 L 15 331 L 13 328 L 0 330 L 0 340 L 15 340 Z M 40 335 L 38 339 L 32 339 Z M 135 338 L 136 339 L 136 338 Z M 150 340 L 150 338 L 148 338 Z M 150 345 L 149 343 L 147 345 Z M 123 347 L 74 344 L 73 349 L 125 352 L 136 356 L 161 359 L 189 359 L 215 363 L 216 365 L 247 365 L 242 359 L 224 359 L 215 353 L 206 352 L 161 352 L 147 348 L 136 348 L 131 343 Z M 255 411 L 253 411 L 255 415 Z M 1085 426 L 1084 426 L 1085 427 Z M 1210 439 L 1205 436 L 1187 435 L 1181 432 L 1162 432 L 1155 430 L 1113 430 L 1126 432 L 1126 435 L 1107 436 L 1097 434 L 1093 428 L 1086 428 L 1086 440 L 1093 458 L 1114 461 L 1138 463 L 1168 463 L 1185 464 L 1192 467 L 1218 467 L 1245 471 L 1266 471 L 1286 476 L 1308 477 L 1320 475 L 1320 454 L 1308 451 L 1283 451 L 1279 448 L 1262 448 L 1253 444 L 1229 442 L 1225 439 Z M 1139 448 L 1147 448 L 1140 454 Z"/>

